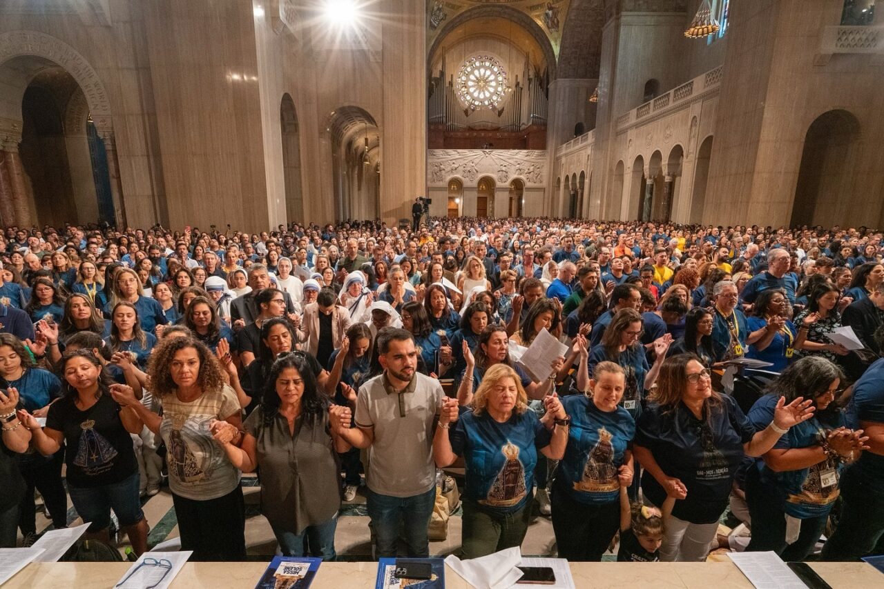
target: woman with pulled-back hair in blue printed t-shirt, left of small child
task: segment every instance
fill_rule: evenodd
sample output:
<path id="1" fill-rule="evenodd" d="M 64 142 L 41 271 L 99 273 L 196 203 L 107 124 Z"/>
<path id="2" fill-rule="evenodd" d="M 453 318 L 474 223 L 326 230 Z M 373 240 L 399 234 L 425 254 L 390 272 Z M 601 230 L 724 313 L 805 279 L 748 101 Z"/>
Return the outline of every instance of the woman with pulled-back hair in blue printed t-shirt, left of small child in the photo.
<path id="1" fill-rule="evenodd" d="M 586 370 L 586 344 L 580 368 Z M 599 362 L 586 395 L 562 398 L 571 417 L 568 447 L 552 486 L 552 530 L 560 558 L 598 562 L 618 530 L 620 487 L 632 484 L 636 422 L 620 406 L 626 374 Z"/>

